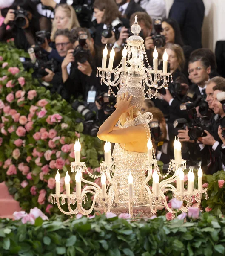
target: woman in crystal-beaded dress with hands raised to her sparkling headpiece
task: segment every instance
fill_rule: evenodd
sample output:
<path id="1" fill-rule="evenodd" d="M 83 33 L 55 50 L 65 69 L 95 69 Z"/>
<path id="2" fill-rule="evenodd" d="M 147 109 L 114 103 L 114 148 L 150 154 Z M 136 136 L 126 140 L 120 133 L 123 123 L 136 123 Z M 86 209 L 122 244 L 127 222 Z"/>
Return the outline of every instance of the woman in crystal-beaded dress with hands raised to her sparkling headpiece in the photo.
<path id="1" fill-rule="evenodd" d="M 144 163 L 148 159 L 148 123 L 152 118 L 151 113 L 142 115 L 140 112 L 144 101 L 143 89 L 123 86 L 117 93 L 116 110 L 100 126 L 97 134 L 100 140 L 116 143 L 112 154 L 115 166 L 112 180 L 117 183 L 119 206 L 125 206 L 127 201 L 130 172 L 133 176 L 133 196 L 137 198 L 135 204 L 140 202 L 140 187 L 145 181 Z M 111 193 L 114 193 L 112 188 L 109 195 Z"/>

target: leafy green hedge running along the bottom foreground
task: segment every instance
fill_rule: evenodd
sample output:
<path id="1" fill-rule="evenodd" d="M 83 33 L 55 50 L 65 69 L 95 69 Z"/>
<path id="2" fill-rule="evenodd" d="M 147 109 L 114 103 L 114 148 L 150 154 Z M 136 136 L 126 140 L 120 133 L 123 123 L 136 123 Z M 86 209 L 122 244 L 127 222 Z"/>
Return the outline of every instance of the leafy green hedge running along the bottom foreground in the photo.
<path id="1" fill-rule="evenodd" d="M 222 256 L 225 219 L 205 212 L 195 220 L 164 216 L 130 221 L 111 212 L 60 221 L 36 218 L 34 225 L 0 220 L 0 255 Z M 125 219 L 124 219 L 125 218 Z"/>

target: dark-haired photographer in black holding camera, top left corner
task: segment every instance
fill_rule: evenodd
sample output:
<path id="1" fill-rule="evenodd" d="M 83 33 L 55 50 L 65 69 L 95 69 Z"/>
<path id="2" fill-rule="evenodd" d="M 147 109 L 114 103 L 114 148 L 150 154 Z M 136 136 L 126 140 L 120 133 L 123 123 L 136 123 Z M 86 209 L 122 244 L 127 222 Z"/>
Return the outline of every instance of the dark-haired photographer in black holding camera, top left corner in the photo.
<path id="1" fill-rule="evenodd" d="M 6 30 L 7 25 L 10 29 Z M 37 12 L 31 0 L 15 0 L 0 27 L 0 41 L 14 38 L 17 48 L 27 50 L 35 44 L 35 33 L 40 30 L 51 31 L 51 21 Z"/>

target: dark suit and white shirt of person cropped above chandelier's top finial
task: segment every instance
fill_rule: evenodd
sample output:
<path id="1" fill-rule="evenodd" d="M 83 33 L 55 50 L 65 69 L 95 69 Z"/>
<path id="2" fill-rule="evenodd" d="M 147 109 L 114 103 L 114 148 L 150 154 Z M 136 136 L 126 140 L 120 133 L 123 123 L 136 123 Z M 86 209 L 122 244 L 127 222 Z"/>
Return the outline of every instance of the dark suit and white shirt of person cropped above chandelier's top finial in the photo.
<path id="1" fill-rule="evenodd" d="M 130 19 L 134 12 L 145 12 L 145 9 L 143 9 L 138 3 L 135 3 L 134 0 L 116 0 L 116 3 L 122 16 L 127 19 Z"/>

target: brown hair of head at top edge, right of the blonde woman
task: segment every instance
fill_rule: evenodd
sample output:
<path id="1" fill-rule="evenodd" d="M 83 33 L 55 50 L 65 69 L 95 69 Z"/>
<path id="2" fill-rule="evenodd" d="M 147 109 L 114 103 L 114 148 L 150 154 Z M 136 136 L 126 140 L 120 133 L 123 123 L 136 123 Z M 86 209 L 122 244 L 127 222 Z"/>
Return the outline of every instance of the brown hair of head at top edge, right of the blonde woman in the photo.
<path id="1" fill-rule="evenodd" d="M 99 9 L 100 11 L 105 9 L 102 23 L 106 25 L 111 24 L 113 20 L 121 16 L 115 0 L 95 0 L 93 8 Z"/>

